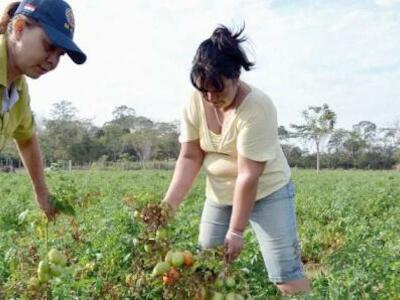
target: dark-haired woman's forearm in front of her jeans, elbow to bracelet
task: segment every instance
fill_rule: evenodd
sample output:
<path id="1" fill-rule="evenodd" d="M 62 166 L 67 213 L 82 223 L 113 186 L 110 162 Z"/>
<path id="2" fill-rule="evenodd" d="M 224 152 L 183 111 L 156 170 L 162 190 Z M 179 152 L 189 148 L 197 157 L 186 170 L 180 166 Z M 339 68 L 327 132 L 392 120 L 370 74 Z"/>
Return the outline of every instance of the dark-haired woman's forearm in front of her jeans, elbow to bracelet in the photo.
<path id="1" fill-rule="evenodd" d="M 238 234 L 243 233 L 254 207 L 257 194 L 258 177 L 240 175 L 236 179 L 232 216 L 229 229 Z"/>

